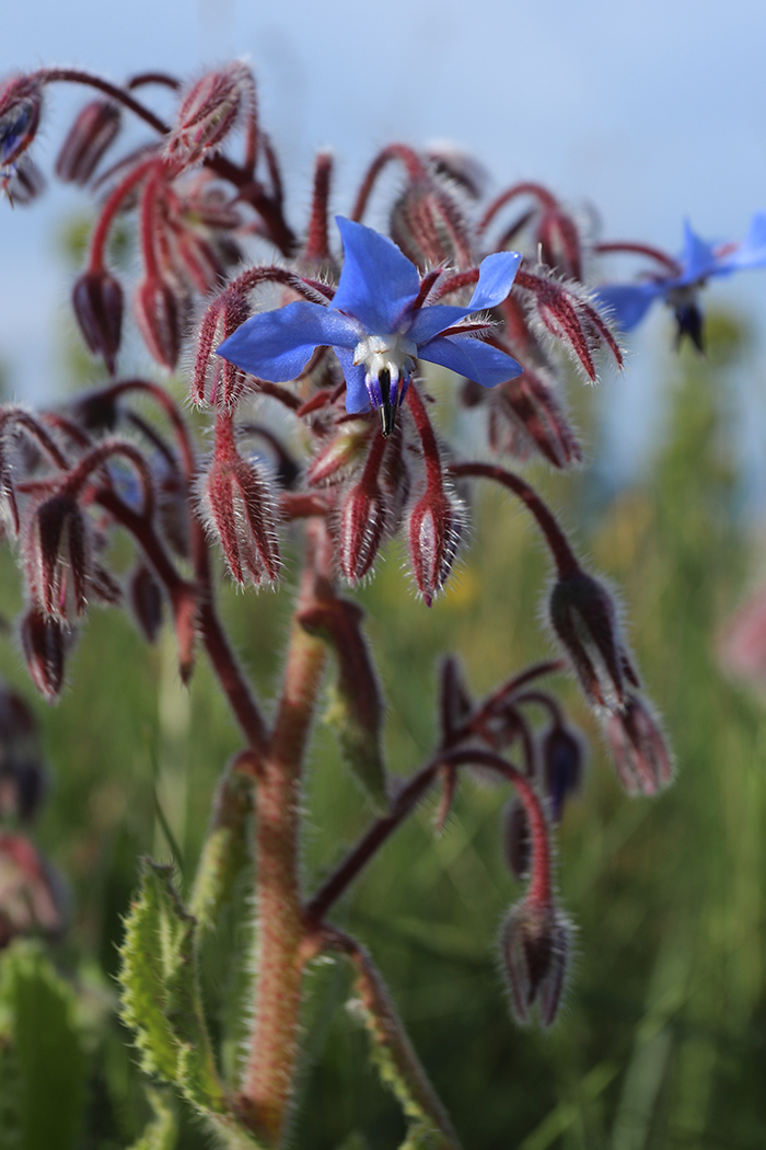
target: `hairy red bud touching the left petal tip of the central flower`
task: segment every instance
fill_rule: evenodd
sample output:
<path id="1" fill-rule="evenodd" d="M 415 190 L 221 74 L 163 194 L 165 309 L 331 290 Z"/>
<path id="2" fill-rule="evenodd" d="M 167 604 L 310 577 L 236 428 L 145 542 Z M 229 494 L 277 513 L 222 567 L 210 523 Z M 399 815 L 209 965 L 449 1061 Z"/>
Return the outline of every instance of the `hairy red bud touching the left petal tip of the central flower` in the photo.
<path id="1" fill-rule="evenodd" d="M 210 305 L 200 324 L 191 398 L 198 407 L 210 404 L 229 412 L 237 406 L 247 388 L 247 374 L 229 360 L 216 355 L 216 350 L 250 315 L 247 297 L 229 289 Z"/>

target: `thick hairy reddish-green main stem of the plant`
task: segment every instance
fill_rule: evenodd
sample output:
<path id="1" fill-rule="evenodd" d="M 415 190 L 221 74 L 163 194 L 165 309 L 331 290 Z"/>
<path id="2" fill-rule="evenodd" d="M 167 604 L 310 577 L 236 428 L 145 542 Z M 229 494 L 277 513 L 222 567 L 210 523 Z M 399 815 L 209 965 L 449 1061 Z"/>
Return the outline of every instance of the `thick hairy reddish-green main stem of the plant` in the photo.
<path id="1" fill-rule="evenodd" d="M 312 523 L 310 558 L 289 638 L 277 721 L 256 777 L 258 975 L 242 1110 L 278 1145 L 297 1055 L 305 928 L 299 883 L 301 767 L 325 666 L 326 645 L 300 623 L 322 598 L 324 524 Z"/>

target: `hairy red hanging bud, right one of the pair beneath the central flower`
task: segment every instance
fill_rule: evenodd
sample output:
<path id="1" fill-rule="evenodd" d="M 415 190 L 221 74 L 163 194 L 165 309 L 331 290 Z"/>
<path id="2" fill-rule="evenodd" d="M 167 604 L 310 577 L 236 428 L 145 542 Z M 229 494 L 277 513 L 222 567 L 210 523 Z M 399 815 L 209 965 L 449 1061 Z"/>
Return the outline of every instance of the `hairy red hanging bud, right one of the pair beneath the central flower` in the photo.
<path id="1" fill-rule="evenodd" d="M 412 573 L 428 607 L 444 589 L 464 528 L 463 505 L 441 488 L 426 488 L 410 513 L 407 534 Z"/>

